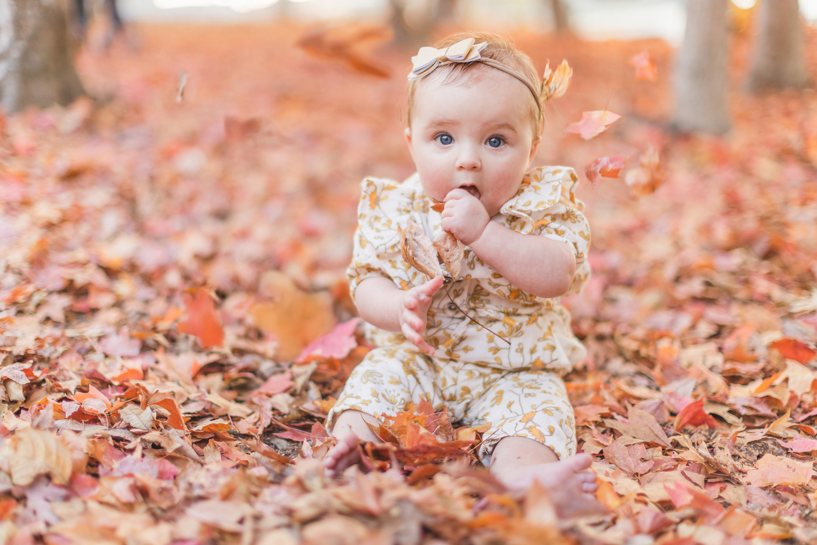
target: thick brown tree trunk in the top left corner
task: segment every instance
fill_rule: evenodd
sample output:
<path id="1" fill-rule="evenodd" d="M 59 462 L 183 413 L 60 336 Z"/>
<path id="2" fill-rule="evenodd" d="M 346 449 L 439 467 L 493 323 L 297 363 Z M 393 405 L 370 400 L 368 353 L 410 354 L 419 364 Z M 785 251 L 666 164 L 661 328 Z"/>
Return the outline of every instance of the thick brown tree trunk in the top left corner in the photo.
<path id="1" fill-rule="evenodd" d="M 0 106 L 67 105 L 83 94 L 61 0 L 0 0 Z"/>

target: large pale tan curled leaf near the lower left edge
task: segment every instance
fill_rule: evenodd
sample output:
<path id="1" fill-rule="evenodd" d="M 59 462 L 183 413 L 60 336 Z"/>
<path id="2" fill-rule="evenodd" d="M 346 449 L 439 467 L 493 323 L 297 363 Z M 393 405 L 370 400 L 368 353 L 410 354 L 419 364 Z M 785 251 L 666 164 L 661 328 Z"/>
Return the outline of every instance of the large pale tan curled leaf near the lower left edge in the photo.
<path id="1" fill-rule="evenodd" d="M 51 431 L 32 427 L 17 431 L 12 444 L 9 467 L 11 482 L 30 485 L 38 475 L 49 475 L 57 485 L 66 485 L 73 460 L 65 444 Z"/>

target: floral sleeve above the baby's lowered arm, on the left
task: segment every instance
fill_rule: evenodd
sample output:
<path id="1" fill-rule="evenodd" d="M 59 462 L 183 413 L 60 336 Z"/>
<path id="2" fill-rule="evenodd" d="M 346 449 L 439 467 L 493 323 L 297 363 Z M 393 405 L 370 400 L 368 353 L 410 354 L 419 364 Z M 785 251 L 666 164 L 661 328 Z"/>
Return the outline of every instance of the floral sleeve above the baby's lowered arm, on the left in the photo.
<path id="1" fill-rule="evenodd" d="M 365 178 L 361 182 L 358 227 L 355 230 L 352 261 L 346 270 L 352 300 L 361 282 L 373 276 L 390 279 L 402 287 L 396 217 L 400 206 L 399 187 L 393 180 Z"/>

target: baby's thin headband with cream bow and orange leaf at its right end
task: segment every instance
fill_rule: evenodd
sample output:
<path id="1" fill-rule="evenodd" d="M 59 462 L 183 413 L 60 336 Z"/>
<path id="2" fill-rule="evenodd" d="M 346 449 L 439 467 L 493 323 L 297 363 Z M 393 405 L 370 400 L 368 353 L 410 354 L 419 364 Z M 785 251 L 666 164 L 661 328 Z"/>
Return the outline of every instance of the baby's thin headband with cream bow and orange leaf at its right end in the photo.
<path id="1" fill-rule="evenodd" d="M 542 101 L 559 98 L 567 91 L 570 78 L 573 76 L 573 69 L 567 64 L 567 60 L 562 60 L 556 72 L 551 71 L 551 63 L 548 61 L 545 74 L 542 77 L 542 83 L 537 85 L 510 66 L 503 65 L 498 60 L 481 56 L 480 51 L 488 45 L 488 42 L 474 42 L 476 42 L 474 38 L 465 38 L 442 49 L 420 47 L 420 51 L 417 51 L 417 55 L 411 58 L 413 68 L 408 74 L 408 80 L 414 81 L 415 79 L 425 78 L 438 66 L 453 65 L 454 63 L 461 62 L 481 62 L 495 69 L 502 70 L 505 74 L 511 74 L 511 76 L 520 82 L 525 83 L 525 87 L 528 87 L 536 99 L 540 114 L 542 113 Z"/>

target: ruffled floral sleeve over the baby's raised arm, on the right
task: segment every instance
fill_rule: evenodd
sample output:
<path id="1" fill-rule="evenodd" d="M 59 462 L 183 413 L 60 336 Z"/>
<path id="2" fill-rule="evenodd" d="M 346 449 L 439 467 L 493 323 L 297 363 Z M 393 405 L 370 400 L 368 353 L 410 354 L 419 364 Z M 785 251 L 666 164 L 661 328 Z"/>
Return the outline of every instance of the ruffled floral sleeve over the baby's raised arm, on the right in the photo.
<path id="1" fill-rule="evenodd" d="M 568 293 L 578 293 L 590 278 L 590 225 L 583 214 L 584 204 L 574 194 L 578 176 L 573 168 L 540 167 L 530 172 L 525 184 L 501 212 L 508 216 L 511 229 L 568 245 L 576 257 L 576 273 Z"/>

